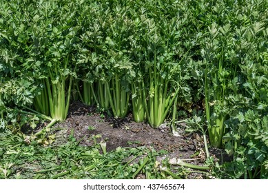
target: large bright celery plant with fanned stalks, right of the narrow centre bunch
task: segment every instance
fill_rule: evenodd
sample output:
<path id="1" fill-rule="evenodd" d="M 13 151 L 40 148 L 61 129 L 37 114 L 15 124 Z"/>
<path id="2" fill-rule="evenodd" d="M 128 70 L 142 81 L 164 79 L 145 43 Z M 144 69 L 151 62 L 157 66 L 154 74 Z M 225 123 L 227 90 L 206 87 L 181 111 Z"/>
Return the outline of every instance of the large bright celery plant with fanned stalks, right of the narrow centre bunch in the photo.
<path id="1" fill-rule="evenodd" d="M 167 22 L 161 18 L 159 23 L 152 20 L 142 21 L 150 29 L 144 36 L 145 70 L 147 70 L 148 93 L 144 91 L 146 116 L 153 128 L 158 128 L 169 113 L 172 104 L 179 93 L 188 90 L 185 85 L 187 79 L 186 65 L 189 50 L 194 42 L 181 45 L 181 26 L 176 19 Z M 161 35 L 162 34 L 162 35 Z M 178 52 L 180 50 L 180 52 Z M 186 72 L 186 73 L 185 73 Z M 189 91 L 189 90 L 188 90 Z"/>

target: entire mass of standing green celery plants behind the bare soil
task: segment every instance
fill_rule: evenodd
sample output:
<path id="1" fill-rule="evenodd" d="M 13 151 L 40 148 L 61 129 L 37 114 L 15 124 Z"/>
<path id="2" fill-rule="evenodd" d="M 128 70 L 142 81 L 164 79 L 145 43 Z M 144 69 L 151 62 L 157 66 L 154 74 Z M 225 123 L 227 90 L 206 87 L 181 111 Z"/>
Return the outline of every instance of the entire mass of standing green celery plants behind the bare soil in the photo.
<path id="1" fill-rule="evenodd" d="M 158 128 L 174 101 L 204 99 L 212 146 L 240 158 L 254 143 L 254 178 L 267 161 L 265 8 L 262 0 L 2 1 L 1 123 L 14 107 L 63 121 L 73 92 L 118 118 L 132 101 L 134 120 Z"/>

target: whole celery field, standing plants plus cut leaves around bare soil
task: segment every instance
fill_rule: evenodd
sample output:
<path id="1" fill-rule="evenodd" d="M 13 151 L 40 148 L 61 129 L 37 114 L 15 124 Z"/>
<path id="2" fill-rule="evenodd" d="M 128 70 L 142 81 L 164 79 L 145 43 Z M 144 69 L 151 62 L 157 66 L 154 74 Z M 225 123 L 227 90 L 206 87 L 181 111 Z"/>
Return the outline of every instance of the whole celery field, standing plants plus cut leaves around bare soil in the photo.
<path id="1" fill-rule="evenodd" d="M 177 165 L 267 179 L 267 9 L 267 0 L 1 1 L 0 179 L 16 178 L 26 158 L 50 167 L 24 178 L 183 178 L 170 162 L 157 170 L 152 150 L 86 149 L 72 134 L 63 146 L 42 143 L 74 101 L 152 130 L 167 124 L 174 136 L 181 123 L 198 132 L 205 165 Z M 232 160 L 214 162 L 210 148 Z M 63 167 L 56 160 L 67 154 Z M 121 167 L 127 156 L 143 162 Z"/>

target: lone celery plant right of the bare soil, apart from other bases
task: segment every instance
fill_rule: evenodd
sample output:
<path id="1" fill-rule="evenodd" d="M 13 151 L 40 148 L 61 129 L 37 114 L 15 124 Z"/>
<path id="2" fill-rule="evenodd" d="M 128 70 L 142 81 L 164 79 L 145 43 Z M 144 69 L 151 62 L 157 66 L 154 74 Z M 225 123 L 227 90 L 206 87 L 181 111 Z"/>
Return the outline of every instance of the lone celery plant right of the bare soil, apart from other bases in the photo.
<path id="1" fill-rule="evenodd" d="M 220 148 L 225 134 L 227 108 L 225 97 L 229 92 L 228 81 L 236 77 L 236 66 L 225 59 L 230 47 L 231 26 L 209 28 L 210 39 L 206 41 L 205 55 L 205 113 L 209 139 L 212 146 Z M 231 71 L 234 70 L 234 71 Z"/>

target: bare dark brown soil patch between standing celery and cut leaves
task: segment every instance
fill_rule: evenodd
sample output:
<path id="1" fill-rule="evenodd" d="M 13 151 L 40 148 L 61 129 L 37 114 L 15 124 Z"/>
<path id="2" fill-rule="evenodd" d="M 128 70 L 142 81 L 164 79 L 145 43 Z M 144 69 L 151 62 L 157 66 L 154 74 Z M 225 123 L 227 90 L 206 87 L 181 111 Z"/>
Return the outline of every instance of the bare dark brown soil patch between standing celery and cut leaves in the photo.
<path id="1" fill-rule="evenodd" d="M 178 127 L 179 136 L 174 136 L 167 123 L 153 129 L 148 123 L 134 122 L 131 114 L 125 119 L 114 119 L 104 112 L 97 112 L 94 106 L 76 101 L 70 105 L 68 118 L 53 128 L 58 130 L 55 143 L 64 143 L 74 130 L 80 145 L 90 146 L 105 141 L 107 152 L 118 147 L 145 146 L 156 151 L 165 150 L 170 158 L 192 159 L 192 162 L 202 164 L 205 161 L 203 138 L 198 133 L 185 132 L 183 124 Z M 220 161 L 223 150 L 212 148 L 210 153 Z"/>

